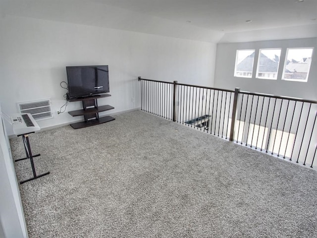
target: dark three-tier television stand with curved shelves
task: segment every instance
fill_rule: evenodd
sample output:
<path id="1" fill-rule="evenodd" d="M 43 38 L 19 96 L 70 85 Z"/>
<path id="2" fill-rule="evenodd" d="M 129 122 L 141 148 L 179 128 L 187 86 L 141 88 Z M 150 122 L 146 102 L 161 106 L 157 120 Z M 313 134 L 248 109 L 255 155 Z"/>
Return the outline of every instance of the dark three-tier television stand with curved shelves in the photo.
<path id="1" fill-rule="evenodd" d="M 73 117 L 84 116 L 84 121 L 72 123 L 70 124 L 70 126 L 73 127 L 74 129 L 79 129 L 79 128 L 98 125 L 101 123 L 106 123 L 108 121 L 114 120 L 114 118 L 110 116 L 101 117 L 101 118 L 99 117 L 100 112 L 112 110 L 114 109 L 114 107 L 109 105 L 98 106 L 97 99 L 110 97 L 110 96 L 111 96 L 110 94 L 101 94 L 101 95 L 98 94 L 91 97 L 68 99 L 69 102 L 82 101 L 82 104 L 83 104 L 83 109 L 70 111 L 68 112 L 68 114 Z"/>

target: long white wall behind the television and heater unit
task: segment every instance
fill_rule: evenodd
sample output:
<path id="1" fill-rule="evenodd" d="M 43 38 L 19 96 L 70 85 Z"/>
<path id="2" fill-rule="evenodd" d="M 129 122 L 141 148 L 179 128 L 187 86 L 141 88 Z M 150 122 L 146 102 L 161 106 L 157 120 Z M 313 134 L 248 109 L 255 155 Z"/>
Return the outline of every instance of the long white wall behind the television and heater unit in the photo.
<path id="1" fill-rule="evenodd" d="M 80 119 L 56 114 L 65 102 L 59 83 L 66 81 L 66 65 L 109 65 L 112 97 L 99 100 L 115 108 L 107 113 L 140 107 L 138 76 L 213 86 L 211 43 L 8 15 L 0 35 L 2 110 L 11 114 L 17 102 L 50 98 L 54 118 L 39 121 L 43 128 Z M 74 102 L 67 111 L 80 108 Z"/>

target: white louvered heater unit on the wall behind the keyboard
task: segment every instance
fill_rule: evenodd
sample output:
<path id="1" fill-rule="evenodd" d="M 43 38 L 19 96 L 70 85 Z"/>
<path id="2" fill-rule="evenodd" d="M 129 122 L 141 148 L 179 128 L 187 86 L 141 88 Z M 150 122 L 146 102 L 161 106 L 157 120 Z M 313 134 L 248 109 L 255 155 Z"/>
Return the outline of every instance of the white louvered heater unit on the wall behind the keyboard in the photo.
<path id="1" fill-rule="evenodd" d="M 17 103 L 17 106 L 20 113 L 30 113 L 36 120 L 53 118 L 50 99 Z"/>

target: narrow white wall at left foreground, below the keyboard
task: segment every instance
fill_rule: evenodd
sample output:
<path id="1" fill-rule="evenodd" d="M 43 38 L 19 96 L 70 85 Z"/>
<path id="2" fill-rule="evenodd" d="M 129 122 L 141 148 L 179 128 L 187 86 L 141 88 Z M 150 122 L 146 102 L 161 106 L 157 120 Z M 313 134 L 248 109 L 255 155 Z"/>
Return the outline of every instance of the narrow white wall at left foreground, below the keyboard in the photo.
<path id="1" fill-rule="evenodd" d="M 1 108 L 0 108 L 1 113 Z M 20 193 L 0 117 L 0 237 L 27 238 Z"/>

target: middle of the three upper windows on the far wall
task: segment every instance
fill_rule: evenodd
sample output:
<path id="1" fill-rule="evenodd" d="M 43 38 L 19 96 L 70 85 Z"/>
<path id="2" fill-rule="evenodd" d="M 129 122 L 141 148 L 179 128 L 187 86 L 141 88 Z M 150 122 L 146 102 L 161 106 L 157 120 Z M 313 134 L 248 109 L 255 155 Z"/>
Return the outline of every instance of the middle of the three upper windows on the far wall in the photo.
<path id="1" fill-rule="evenodd" d="M 281 49 L 260 49 L 257 78 L 277 79 Z"/>

